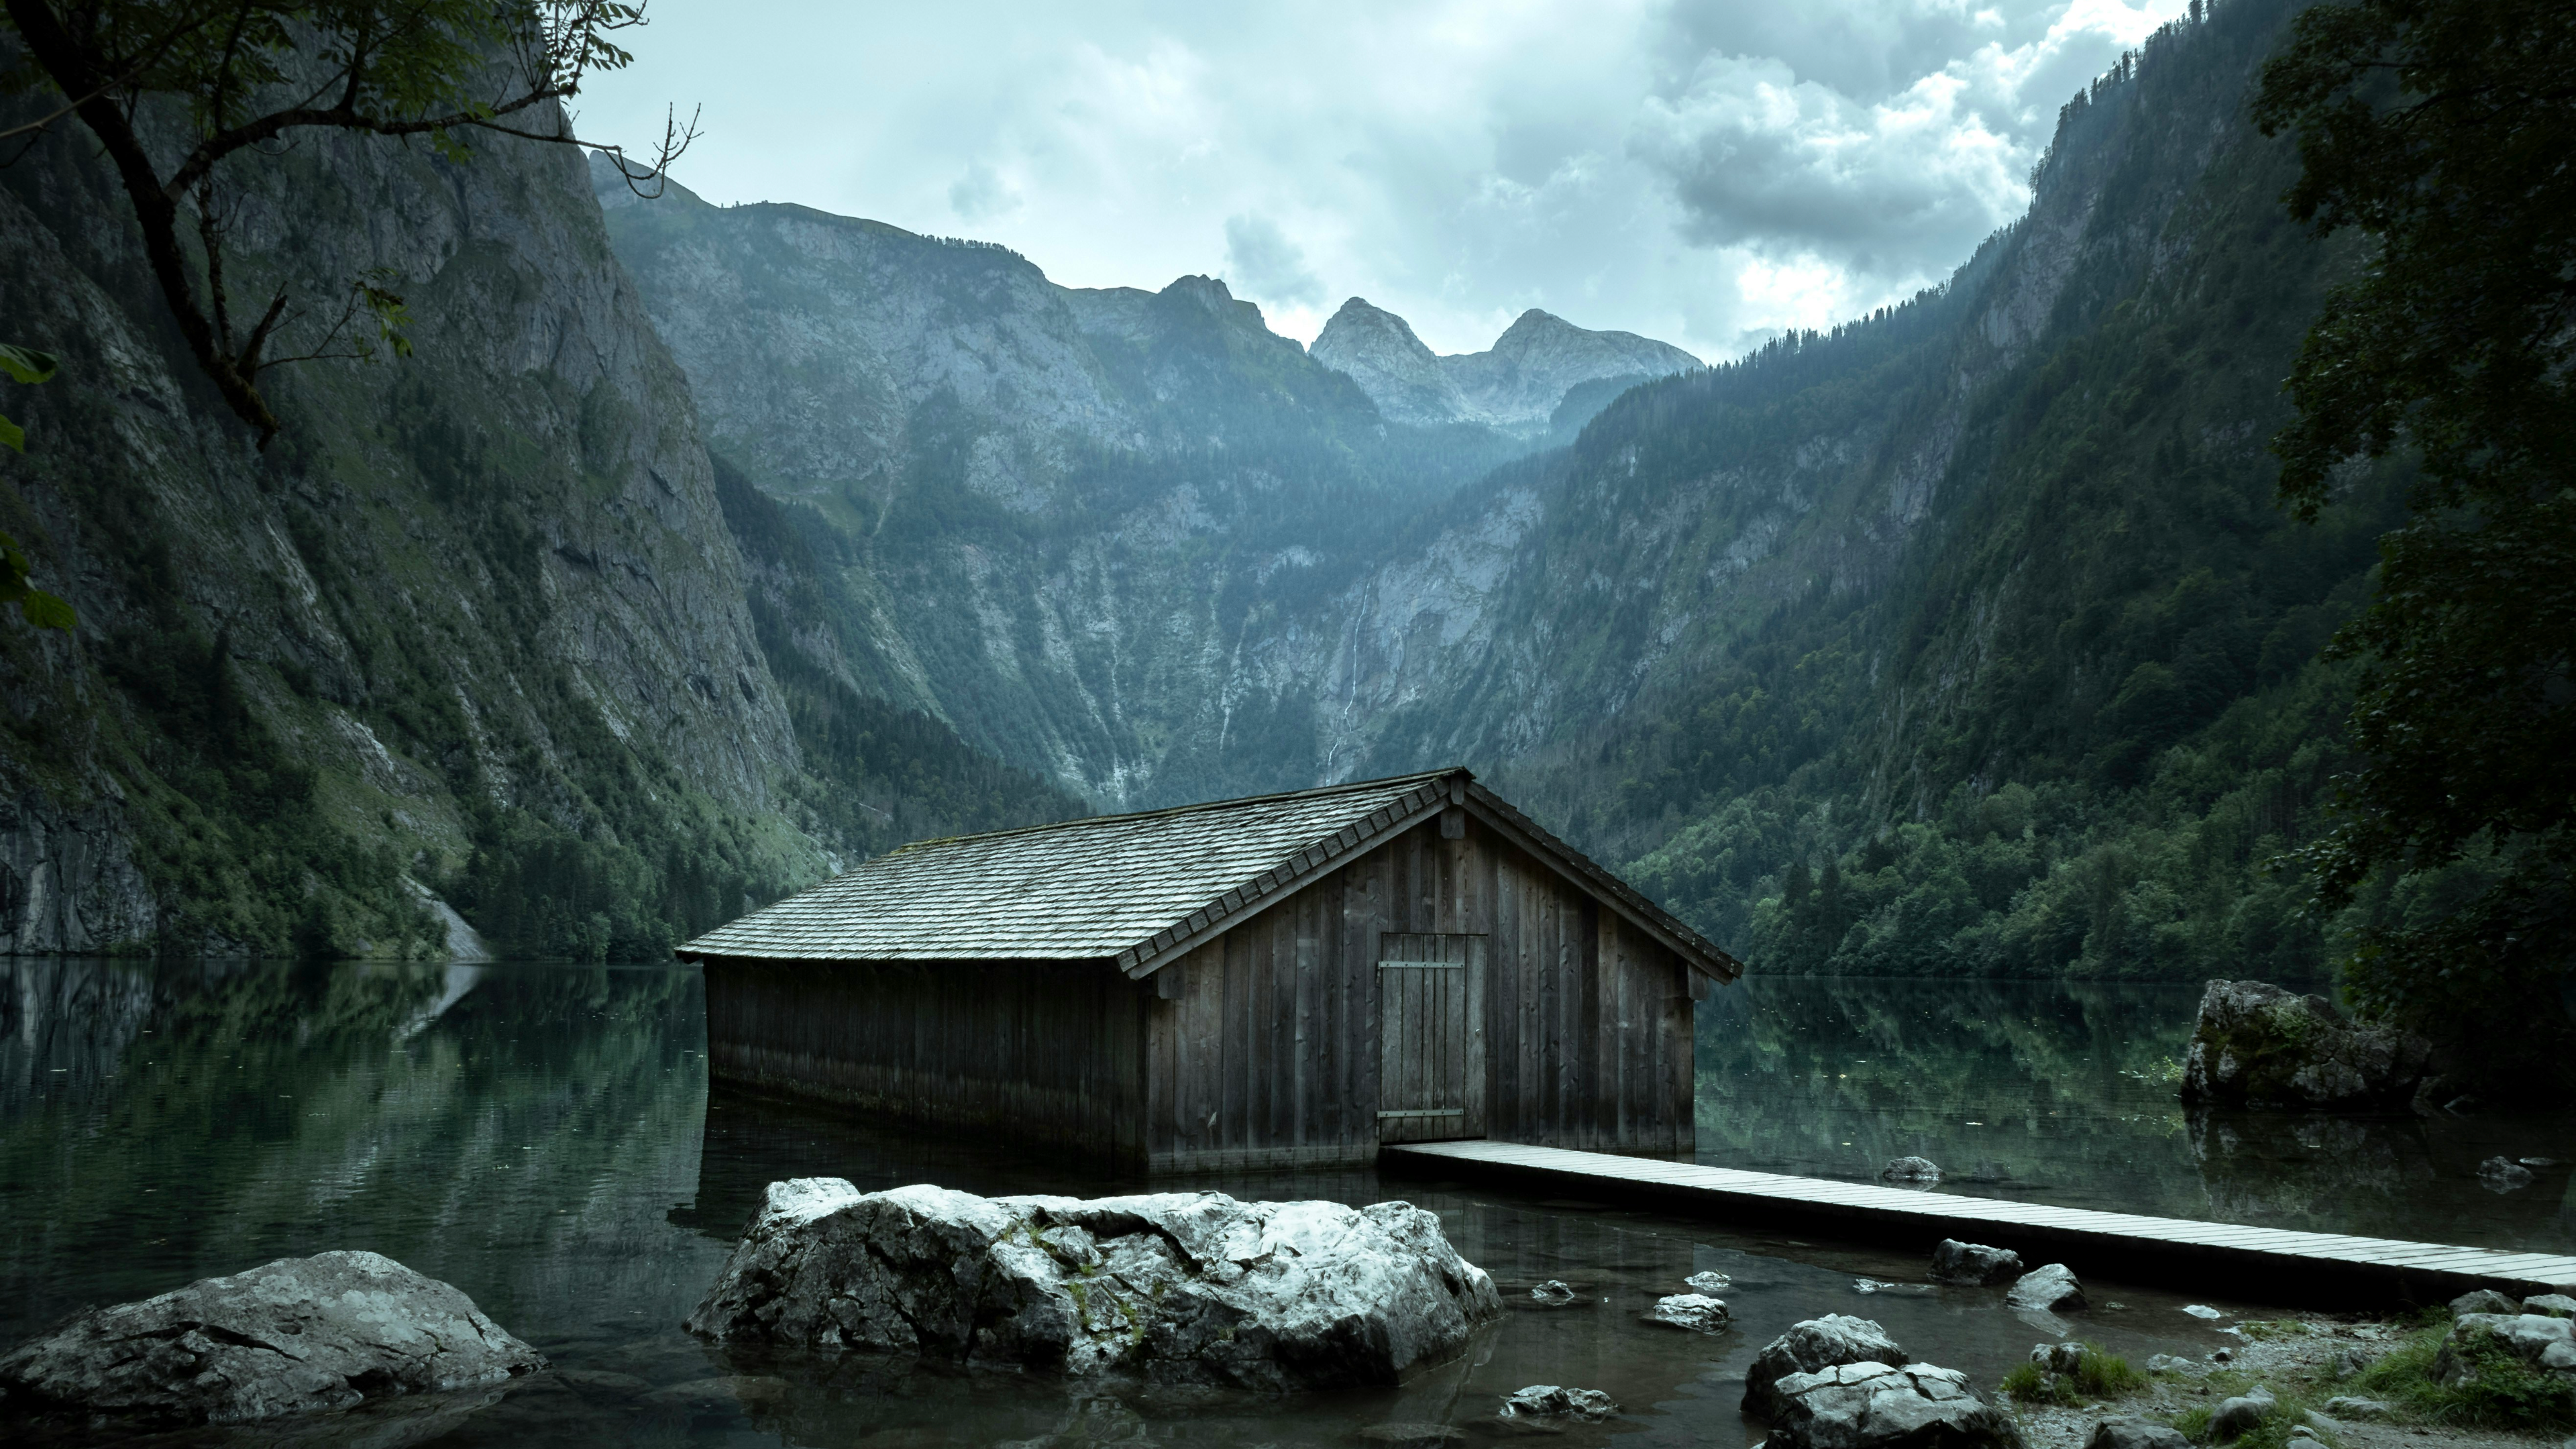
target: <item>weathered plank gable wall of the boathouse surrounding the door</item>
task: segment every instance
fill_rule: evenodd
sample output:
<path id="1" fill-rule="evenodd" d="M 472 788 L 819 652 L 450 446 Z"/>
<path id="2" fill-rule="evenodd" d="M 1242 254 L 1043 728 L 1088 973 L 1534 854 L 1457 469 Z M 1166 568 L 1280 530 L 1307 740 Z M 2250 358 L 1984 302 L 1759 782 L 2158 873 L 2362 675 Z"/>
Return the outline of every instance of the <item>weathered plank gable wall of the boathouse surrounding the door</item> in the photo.
<path id="1" fill-rule="evenodd" d="M 1383 933 L 1486 936 L 1486 1132 L 1687 1152 L 1680 957 L 1479 822 L 1425 822 L 1164 967 L 1144 1021 L 1146 1160 L 1355 1165 L 1378 1147 Z"/>

